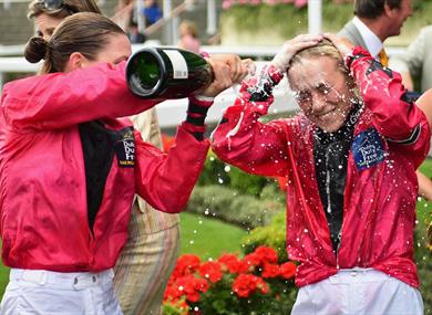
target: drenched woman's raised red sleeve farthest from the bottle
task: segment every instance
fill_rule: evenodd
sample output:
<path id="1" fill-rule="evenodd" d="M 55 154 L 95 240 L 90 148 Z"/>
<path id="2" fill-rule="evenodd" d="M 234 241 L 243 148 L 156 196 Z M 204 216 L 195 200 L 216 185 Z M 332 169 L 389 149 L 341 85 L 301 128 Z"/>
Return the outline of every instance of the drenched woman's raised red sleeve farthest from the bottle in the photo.
<path id="1" fill-rule="evenodd" d="M 366 106 L 373 112 L 373 125 L 390 145 L 403 146 L 419 166 L 430 147 L 430 128 L 423 112 L 407 96 L 401 75 L 354 49 L 350 63 Z"/>

